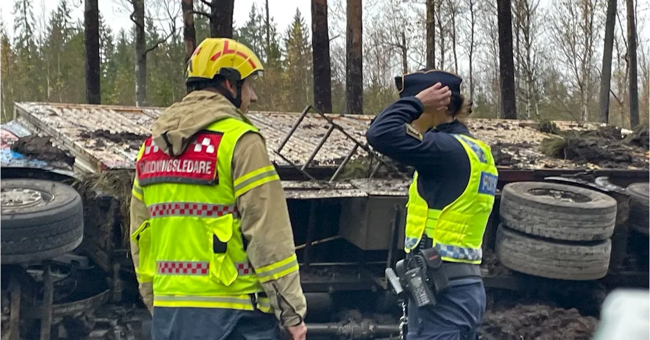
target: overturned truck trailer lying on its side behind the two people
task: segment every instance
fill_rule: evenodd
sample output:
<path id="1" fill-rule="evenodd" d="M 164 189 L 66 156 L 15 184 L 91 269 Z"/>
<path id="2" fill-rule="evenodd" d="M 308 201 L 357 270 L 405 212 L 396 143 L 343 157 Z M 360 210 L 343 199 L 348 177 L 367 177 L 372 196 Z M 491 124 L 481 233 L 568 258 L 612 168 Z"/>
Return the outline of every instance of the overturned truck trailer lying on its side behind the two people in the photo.
<path id="1" fill-rule="evenodd" d="M 404 237 L 408 169 L 386 161 L 367 146 L 364 133 L 371 116 L 324 115 L 310 113 L 309 109 L 305 108 L 302 114 L 249 114 L 266 137 L 269 156 L 286 190 L 302 285 L 309 304 L 309 332 L 345 337 L 395 336 L 399 332 L 400 309 L 387 291 L 383 270 L 404 256 L 400 245 Z M 71 319 L 85 320 L 81 328 L 101 334 L 97 330 L 98 320 L 99 324 L 112 322 L 108 317 L 102 319 L 101 306 L 107 306 L 107 302 L 116 306 L 138 298 L 127 248 L 126 207 L 138 148 L 162 110 L 16 103 L 14 121 L 3 125 L 4 129 L 0 127 L 0 164 L 5 164 L 0 168 L 0 179 L 30 179 L 23 181 L 26 187 L 33 185 L 34 179 L 74 185 L 83 198 L 84 214 L 83 241 L 73 252 L 53 261 L 47 258 L 45 263 L 41 260 L 46 258 L 40 256 L 2 267 L 16 273 L 12 280 L 3 280 L 9 277 L 5 275 L 0 278 L 4 281 L 0 282 L 0 290 L 5 289 L 12 302 L 7 317 L 12 334 L 17 332 L 16 299 L 19 301 L 20 296 L 27 296 L 22 303 L 27 307 L 20 315 L 44 320 L 40 323 L 42 334 L 49 334 L 48 324 L 59 325 L 52 328 L 59 332 L 70 332 L 69 328 L 74 328 Z M 643 246 L 647 244 L 645 233 L 643 228 L 627 228 L 630 197 L 637 202 L 632 207 L 641 211 L 642 216 L 650 198 L 645 189 L 632 196 L 630 190 L 625 190 L 631 183 L 650 182 L 650 171 L 602 169 L 593 164 L 545 157 L 539 145 L 551 135 L 539 132 L 532 122 L 471 120 L 469 125 L 478 137 L 493 145 L 500 165 L 499 193 L 484 238 L 483 273 L 488 287 L 569 292 L 572 290 L 566 287 L 580 285 L 583 289 L 588 285 L 601 293 L 619 285 L 650 287 L 646 270 L 650 263 L 644 262 L 647 257 L 642 250 L 647 248 Z M 565 131 L 597 129 L 571 122 L 557 125 Z M 5 148 L 3 154 L 3 133 L 6 146 L 12 145 L 15 151 Z M 62 155 L 48 158 L 46 153 L 59 152 L 47 150 L 47 143 L 42 141 L 48 138 L 73 159 L 64 163 L 61 161 L 66 157 Z M 18 143 L 25 146 L 16 148 Z M 36 156 L 29 157 L 29 153 Z M 635 164 L 640 168 L 647 161 L 643 156 Z M 521 196 L 521 189 L 506 190 L 510 192 L 508 200 L 500 201 L 504 186 L 513 182 L 537 183 L 525 189 L 532 196 L 539 196 L 539 200 L 530 198 L 530 194 L 526 196 L 532 210 L 528 209 L 525 215 L 536 216 L 539 223 L 532 233 L 525 223 L 513 222 L 521 221 L 513 212 L 525 206 L 519 203 L 526 198 L 513 198 L 513 194 Z M 16 190 L 12 192 L 16 195 Z M 34 190 L 23 191 L 21 199 L 25 193 L 27 198 L 21 202 L 42 199 L 36 197 Z M 580 220 L 584 212 L 595 211 L 591 208 L 596 203 L 590 202 L 600 200 L 602 196 L 597 194 L 615 201 L 601 209 L 601 215 L 595 215 L 610 219 L 603 226 L 604 236 L 554 238 L 570 234 L 567 228 L 571 227 L 545 221 L 544 214 L 552 214 L 557 208 L 569 216 L 568 220 Z M 540 208 L 535 215 L 535 207 L 544 204 L 551 208 Z M 508 212 L 500 214 L 500 209 Z M 552 235 L 547 235 L 551 232 L 549 228 L 556 228 Z M 73 231 L 61 229 L 60 233 L 72 235 Z M 0 226 L 0 244 L 2 235 L 5 234 Z M 603 242 L 610 246 L 603 246 Z M 580 263 L 584 254 L 591 254 L 596 248 L 591 263 Z M 8 254 L 1 253 L 3 249 L 0 246 L 0 259 L 7 259 Z M 575 249 L 582 249 L 578 257 Z M 564 250 L 557 253 L 567 257 L 540 255 L 558 250 Z M 515 258 L 526 260 L 514 261 Z M 0 260 L 0 265 L 7 262 Z M 585 266 L 597 269 L 584 274 L 580 268 Z M 29 303 L 25 304 L 25 300 Z M 90 311 L 96 311 L 92 318 Z M 138 309 L 137 318 L 133 315 L 123 315 L 125 324 L 146 319 L 142 308 Z M 103 330 L 107 332 L 112 327 L 109 326 Z"/>

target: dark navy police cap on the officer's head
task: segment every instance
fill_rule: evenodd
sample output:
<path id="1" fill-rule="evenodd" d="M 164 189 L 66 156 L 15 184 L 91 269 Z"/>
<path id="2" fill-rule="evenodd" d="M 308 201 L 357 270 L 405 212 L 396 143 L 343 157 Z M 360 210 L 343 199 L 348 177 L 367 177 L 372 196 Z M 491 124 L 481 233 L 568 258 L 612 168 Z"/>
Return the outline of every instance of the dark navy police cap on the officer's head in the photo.
<path id="1" fill-rule="evenodd" d="M 462 82 L 463 79 L 458 75 L 433 69 L 419 70 L 395 77 L 395 86 L 400 98 L 415 96 L 425 88 L 434 86 L 435 83 L 441 83 L 443 87 L 448 86 L 452 98 L 460 98 Z"/>

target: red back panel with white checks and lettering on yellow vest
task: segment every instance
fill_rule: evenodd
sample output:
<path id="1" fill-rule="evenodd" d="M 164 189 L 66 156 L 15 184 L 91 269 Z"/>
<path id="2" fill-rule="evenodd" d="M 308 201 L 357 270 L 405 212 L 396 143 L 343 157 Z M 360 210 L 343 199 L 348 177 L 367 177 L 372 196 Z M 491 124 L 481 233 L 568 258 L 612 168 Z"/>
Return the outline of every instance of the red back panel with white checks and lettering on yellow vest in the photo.
<path id="1" fill-rule="evenodd" d="M 187 183 L 215 185 L 219 181 L 217 152 L 222 133 L 201 132 L 178 157 L 162 152 L 151 137 L 144 141 L 144 153 L 136 163 L 138 183 Z"/>

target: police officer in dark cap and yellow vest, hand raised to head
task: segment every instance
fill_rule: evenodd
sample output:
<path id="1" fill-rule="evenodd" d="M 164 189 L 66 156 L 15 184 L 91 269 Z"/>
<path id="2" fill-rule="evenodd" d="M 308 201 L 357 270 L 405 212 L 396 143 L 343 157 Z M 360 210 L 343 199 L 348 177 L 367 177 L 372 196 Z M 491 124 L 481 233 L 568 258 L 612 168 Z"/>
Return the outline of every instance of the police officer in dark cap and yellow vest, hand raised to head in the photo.
<path id="1" fill-rule="evenodd" d="M 366 137 L 374 150 L 415 168 L 404 251 L 409 259 L 434 248 L 448 280 L 447 289 L 432 289 L 434 306 L 409 300 L 406 337 L 475 340 L 486 308 L 479 264 L 497 168 L 489 146 L 461 123 L 470 104 L 460 94 L 460 77 L 421 70 L 395 82 L 400 99 L 376 117 Z"/>

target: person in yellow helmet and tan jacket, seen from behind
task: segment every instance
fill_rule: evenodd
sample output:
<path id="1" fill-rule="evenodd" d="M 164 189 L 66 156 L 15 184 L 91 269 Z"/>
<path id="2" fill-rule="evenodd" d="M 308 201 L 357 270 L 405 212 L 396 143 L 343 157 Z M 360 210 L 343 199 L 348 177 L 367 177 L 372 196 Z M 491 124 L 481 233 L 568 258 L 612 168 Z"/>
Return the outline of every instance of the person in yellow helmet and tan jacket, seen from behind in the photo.
<path id="1" fill-rule="evenodd" d="M 188 95 L 140 148 L 131 254 L 154 340 L 281 339 L 279 324 L 305 339 L 287 202 L 244 115 L 263 70 L 244 44 L 203 40 L 188 60 Z"/>

